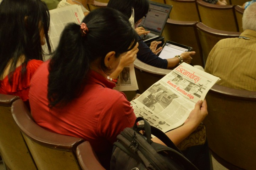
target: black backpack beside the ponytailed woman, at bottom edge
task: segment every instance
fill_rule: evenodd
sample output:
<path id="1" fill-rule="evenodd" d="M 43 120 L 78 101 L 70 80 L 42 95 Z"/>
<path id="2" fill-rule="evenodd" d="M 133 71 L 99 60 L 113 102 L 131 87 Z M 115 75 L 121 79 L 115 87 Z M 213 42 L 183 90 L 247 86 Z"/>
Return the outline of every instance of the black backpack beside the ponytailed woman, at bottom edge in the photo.
<path id="1" fill-rule="evenodd" d="M 143 120 L 144 125 L 137 122 Z M 144 130 L 141 135 L 140 130 Z M 167 146 L 151 141 L 152 135 Z M 111 170 L 198 170 L 160 129 L 138 117 L 133 128 L 125 128 L 114 143 Z"/>

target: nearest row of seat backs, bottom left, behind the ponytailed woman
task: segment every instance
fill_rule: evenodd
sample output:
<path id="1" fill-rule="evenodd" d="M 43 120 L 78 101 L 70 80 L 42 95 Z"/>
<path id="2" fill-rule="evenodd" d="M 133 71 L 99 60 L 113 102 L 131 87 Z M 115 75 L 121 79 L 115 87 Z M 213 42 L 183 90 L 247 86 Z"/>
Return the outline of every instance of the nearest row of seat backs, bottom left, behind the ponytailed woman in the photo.
<path id="1" fill-rule="evenodd" d="M 41 128 L 12 95 L 0 94 L 0 153 L 11 170 L 104 170 L 88 141 Z"/>

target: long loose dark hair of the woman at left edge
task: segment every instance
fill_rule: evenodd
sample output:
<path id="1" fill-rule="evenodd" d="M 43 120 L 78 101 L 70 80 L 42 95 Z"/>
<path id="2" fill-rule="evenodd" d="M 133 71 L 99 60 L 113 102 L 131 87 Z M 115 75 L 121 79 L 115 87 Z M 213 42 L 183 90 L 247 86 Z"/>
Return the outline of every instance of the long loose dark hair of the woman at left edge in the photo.
<path id="1" fill-rule="evenodd" d="M 11 79 L 16 64 L 24 55 L 22 75 L 31 59 L 43 60 L 40 28 L 44 29 L 48 50 L 50 15 L 45 2 L 41 0 L 3 0 L 0 4 L 0 77 L 11 62 Z M 11 82 L 10 82 L 11 83 Z"/>

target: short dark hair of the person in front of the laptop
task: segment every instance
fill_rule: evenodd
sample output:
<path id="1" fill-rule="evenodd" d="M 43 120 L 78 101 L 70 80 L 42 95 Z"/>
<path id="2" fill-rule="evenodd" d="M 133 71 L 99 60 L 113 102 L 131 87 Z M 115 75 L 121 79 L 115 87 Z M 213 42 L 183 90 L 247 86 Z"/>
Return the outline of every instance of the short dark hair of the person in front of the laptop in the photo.
<path id="1" fill-rule="evenodd" d="M 144 17 L 149 10 L 148 0 L 110 0 L 107 7 L 114 8 L 128 18 L 132 15 L 132 7 L 134 8 L 134 23 Z"/>

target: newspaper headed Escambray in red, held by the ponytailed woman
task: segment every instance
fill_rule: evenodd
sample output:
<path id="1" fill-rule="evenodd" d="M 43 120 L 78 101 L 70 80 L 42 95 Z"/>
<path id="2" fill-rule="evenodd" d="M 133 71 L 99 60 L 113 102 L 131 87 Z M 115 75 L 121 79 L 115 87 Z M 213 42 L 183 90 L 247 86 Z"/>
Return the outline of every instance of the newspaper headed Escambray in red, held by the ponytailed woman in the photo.
<path id="1" fill-rule="evenodd" d="M 163 132 L 184 124 L 195 103 L 204 100 L 220 80 L 187 63 L 182 63 L 131 101 L 136 117 L 144 117 Z"/>

